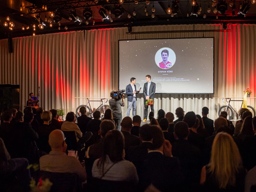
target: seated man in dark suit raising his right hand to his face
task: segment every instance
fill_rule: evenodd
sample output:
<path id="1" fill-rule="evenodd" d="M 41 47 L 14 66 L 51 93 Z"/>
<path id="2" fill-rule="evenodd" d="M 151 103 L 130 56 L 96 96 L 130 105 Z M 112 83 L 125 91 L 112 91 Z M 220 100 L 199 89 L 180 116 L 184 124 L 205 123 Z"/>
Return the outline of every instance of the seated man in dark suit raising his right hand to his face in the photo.
<path id="1" fill-rule="evenodd" d="M 164 140 L 163 132 L 158 126 L 152 126 L 152 136 L 152 147 L 143 163 L 141 188 L 144 191 L 153 184 L 162 192 L 170 189 L 177 191 L 183 183 L 179 159 L 172 156 L 172 145 Z"/>

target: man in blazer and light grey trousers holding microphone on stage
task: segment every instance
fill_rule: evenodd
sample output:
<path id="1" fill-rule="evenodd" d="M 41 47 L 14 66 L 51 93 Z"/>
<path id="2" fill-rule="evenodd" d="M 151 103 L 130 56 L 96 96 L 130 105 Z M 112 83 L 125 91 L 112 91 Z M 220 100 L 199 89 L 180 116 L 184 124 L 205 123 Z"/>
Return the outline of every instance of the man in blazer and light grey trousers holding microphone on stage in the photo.
<path id="1" fill-rule="evenodd" d="M 132 109 L 132 116 L 134 117 L 136 115 L 136 102 L 137 102 L 137 96 L 136 93 L 136 78 L 132 77 L 130 79 L 131 83 L 126 86 L 125 92 L 127 95 L 127 101 L 128 101 L 128 109 L 127 109 L 127 116 L 130 116 L 130 111 Z M 140 90 L 139 90 L 140 91 Z"/>

